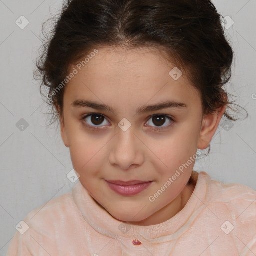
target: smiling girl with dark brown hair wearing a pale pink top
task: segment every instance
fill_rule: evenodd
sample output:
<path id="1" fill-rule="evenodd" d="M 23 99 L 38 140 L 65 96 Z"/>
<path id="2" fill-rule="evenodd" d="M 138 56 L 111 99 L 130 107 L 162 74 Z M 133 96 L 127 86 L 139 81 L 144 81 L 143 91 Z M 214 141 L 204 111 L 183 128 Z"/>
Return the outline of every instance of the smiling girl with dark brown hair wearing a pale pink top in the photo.
<path id="1" fill-rule="evenodd" d="M 256 192 L 193 171 L 232 59 L 210 0 L 66 1 L 37 74 L 79 180 L 7 256 L 256 255 Z"/>

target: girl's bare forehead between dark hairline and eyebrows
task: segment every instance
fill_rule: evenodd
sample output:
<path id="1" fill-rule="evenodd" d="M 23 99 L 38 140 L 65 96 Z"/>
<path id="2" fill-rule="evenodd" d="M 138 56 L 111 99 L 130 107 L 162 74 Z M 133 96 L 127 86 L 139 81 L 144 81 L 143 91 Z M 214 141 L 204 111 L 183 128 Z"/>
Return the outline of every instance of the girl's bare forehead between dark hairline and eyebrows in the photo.
<path id="1" fill-rule="evenodd" d="M 173 79 L 170 72 L 176 68 L 175 64 L 166 61 L 163 54 L 153 48 L 97 49 L 96 54 L 88 54 L 86 62 L 83 58 L 69 67 L 69 73 L 77 71 L 65 88 L 64 98 L 69 103 L 91 97 L 108 103 L 119 101 L 136 105 L 150 98 L 152 102 L 167 98 L 189 101 L 196 93 L 186 75 Z"/>

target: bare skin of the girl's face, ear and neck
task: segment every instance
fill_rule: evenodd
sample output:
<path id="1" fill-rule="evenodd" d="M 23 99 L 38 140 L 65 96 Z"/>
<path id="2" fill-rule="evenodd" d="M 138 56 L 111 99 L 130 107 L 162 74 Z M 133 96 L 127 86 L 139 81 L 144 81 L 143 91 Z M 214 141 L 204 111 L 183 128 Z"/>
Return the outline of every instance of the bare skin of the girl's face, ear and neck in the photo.
<path id="1" fill-rule="evenodd" d="M 195 155 L 197 148 L 208 147 L 226 106 L 203 116 L 199 92 L 186 75 L 172 79 L 169 72 L 175 65 L 150 48 L 98 49 L 65 85 L 61 137 L 70 149 L 81 184 L 98 205 L 131 224 L 162 223 L 176 215 L 193 193 L 194 185 L 186 184 L 194 161 L 154 202 L 149 196 Z M 70 65 L 70 72 L 74 67 Z M 71 106 L 76 99 L 109 105 L 115 114 Z M 178 100 L 187 107 L 136 114 L 138 107 L 164 100 Z M 91 116 L 82 120 L 90 113 L 103 115 L 101 122 Z M 154 114 L 171 116 L 174 122 L 166 117 L 158 123 L 152 118 Z M 123 118 L 131 123 L 125 132 L 118 126 Z M 153 182 L 139 194 L 123 196 L 111 190 L 105 180 Z"/>

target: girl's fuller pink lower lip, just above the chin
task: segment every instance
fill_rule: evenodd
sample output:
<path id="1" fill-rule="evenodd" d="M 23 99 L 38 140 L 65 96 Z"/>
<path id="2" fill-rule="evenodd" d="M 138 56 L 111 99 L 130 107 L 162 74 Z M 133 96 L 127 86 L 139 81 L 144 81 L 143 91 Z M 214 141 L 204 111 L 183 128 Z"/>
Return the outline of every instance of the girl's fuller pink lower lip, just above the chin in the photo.
<path id="1" fill-rule="evenodd" d="M 109 187 L 118 194 L 121 195 L 135 195 L 146 189 L 153 181 L 136 184 L 136 185 L 117 185 L 106 181 Z"/>

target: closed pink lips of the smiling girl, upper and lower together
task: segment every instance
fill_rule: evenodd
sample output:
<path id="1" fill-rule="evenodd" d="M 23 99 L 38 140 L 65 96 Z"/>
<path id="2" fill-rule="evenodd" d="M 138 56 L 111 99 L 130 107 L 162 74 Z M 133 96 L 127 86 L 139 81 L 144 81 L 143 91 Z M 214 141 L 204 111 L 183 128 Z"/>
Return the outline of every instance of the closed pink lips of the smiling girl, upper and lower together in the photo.
<path id="1" fill-rule="evenodd" d="M 153 181 L 131 180 L 125 182 L 120 180 L 106 180 L 106 182 L 118 194 L 135 195 L 146 189 Z"/>

